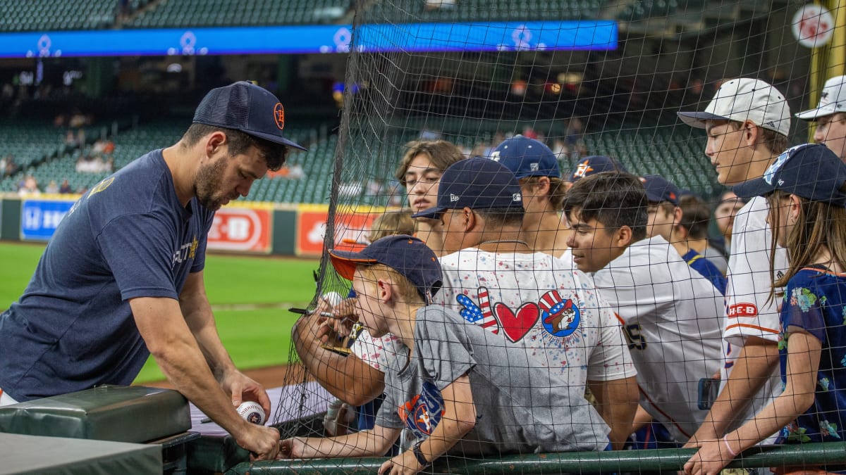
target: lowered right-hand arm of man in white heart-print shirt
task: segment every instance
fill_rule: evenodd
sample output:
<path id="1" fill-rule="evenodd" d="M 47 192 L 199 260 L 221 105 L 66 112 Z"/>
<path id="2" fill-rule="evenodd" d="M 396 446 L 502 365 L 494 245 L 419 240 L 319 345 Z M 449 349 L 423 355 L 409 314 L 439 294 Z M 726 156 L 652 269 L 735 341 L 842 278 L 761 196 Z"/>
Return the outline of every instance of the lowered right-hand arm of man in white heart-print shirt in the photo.
<path id="1" fill-rule="evenodd" d="M 588 381 L 588 387 L 596 398 L 596 410 L 611 428 L 608 439 L 614 450 L 623 450 L 623 445 L 632 433 L 634 413 L 637 412 L 640 394 L 637 378 L 631 376 L 610 381 Z"/>

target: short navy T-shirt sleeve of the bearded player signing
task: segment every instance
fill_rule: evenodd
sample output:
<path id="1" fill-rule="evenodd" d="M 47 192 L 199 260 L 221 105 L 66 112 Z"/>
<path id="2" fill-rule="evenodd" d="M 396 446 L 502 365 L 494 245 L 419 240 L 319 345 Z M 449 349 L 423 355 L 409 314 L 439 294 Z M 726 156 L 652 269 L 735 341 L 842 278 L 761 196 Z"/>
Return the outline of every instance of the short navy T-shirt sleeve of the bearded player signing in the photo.
<path id="1" fill-rule="evenodd" d="M 175 236 L 172 225 L 149 214 L 119 216 L 103 227 L 96 243 L 121 298 L 179 298 L 172 276 Z"/>

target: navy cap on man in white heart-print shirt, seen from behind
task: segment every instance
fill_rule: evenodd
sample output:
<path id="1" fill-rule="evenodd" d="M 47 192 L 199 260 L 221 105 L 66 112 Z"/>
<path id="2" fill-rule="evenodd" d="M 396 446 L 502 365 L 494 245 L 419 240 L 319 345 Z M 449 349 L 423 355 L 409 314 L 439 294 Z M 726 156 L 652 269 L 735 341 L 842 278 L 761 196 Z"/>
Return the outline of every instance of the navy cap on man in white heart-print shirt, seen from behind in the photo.
<path id="1" fill-rule="evenodd" d="M 446 210 L 523 209 L 520 185 L 508 168 L 489 158 L 476 156 L 456 161 L 441 175 L 437 206 L 411 217 L 437 219 Z"/>

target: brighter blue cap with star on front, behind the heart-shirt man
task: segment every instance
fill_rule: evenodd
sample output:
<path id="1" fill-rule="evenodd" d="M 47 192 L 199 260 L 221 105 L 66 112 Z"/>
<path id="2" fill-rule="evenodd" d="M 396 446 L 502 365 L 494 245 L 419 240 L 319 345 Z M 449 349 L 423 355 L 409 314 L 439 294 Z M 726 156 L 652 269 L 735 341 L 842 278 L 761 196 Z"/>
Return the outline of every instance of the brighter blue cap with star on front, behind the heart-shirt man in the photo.
<path id="1" fill-rule="evenodd" d="M 561 177 L 558 160 L 547 145 L 523 135 L 503 140 L 491 154 L 493 161 L 502 163 L 517 179 L 525 177 Z"/>

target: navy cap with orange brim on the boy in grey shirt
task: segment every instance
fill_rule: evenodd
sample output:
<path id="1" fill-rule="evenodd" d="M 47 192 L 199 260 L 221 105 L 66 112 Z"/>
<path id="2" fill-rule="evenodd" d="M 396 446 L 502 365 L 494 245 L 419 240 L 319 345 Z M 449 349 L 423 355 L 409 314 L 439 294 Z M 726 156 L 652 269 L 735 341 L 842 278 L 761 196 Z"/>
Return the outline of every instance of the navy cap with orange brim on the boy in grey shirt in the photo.
<path id="1" fill-rule="evenodd" d="M 357 265 L 384 264 L 411 281 L 426 303 L 431 303 L 441 289 L 441 263 L 435 252 L 420 239 L 406 234 L 376 239 L 359 252 L 332 249 L 329 256 L 338 275 L 349 281 L 353 280 Z"/>

